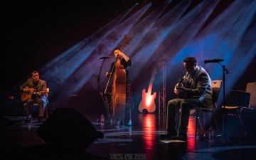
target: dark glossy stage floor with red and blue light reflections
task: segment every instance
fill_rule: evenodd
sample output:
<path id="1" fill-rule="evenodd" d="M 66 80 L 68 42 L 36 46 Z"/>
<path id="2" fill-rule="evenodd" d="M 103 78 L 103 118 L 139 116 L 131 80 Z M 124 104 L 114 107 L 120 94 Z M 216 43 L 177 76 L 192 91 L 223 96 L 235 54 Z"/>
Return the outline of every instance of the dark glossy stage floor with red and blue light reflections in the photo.
<path id="1" fill-rule="evenodd" d="M 228 135 L 231 143 L 226 137 L 217 137 L 216 129 L 213 142 L 209 142 L 208 135 L 203 137 L 202 134 L 195 140 L 196 118 L 193 115 L 187 142 L 159 138 L 159 134 L 166 132 L 164 114 L 132 114 L 132 127 L 123 124 L 115 127 L 106 118 L 101 124 L 95 117 L 87 117 L 97 131 L 104 133 L 104 138 L 97 139 L 82 154 L 75 155 L 49 151 L 37 135 L 42 124 L 37 119 L 23 123 L 23 117 L 5 118 L 14 124 L 0 131 L 1 159 L 256 159 L 255 127 L 247 127 L 247 134 L 240 138 Z M 200 127 L 198 132 L 201 132 Z"/>

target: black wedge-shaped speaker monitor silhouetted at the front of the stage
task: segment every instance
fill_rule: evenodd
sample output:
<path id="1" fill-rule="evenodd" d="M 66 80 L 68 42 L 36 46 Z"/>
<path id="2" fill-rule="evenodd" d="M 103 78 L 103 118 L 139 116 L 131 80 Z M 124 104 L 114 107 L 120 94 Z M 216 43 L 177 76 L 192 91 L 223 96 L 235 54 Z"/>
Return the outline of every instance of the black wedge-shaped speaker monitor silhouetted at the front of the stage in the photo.
<path id="1" fill-rule="evenodd" d="M 97 139 L 97 130 L 80 112 L 58 108 L 38 128 L 46 145 L 61 151 L 82 152 Z"/>

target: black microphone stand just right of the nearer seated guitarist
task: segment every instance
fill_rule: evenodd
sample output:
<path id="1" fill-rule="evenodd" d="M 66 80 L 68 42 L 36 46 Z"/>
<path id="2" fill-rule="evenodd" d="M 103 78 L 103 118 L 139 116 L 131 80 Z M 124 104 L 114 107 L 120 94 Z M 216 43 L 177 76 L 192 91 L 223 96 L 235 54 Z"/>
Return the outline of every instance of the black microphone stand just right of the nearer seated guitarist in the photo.
<path id="1" fill-rule="evenodd" d="M 230 139 L 228 139 L 228 134 L 225 131 L 225 73 L 228 74 L 229 72 L 228 69 L 225 68 L 225 65 L 221 65 L 221 67 L 223 68 L 223 134 L 218 135 L 217 137 L 225 137 L 228 140 L 229 144 L 231 144 Z"/>

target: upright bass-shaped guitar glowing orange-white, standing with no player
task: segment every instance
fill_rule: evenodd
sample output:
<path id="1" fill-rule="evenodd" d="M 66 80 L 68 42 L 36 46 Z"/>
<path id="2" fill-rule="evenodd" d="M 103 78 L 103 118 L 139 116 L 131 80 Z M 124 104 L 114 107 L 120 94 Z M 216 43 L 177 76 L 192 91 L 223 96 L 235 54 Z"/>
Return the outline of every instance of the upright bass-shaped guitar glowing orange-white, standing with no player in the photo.
<path id="1" fill-rule="evenodd" d="M 154 76 L 156 75 L 156 73 L 157 70 L 155 68 L 151 75 L 148 92 L 146 92 L 145 89 L 142 90 L 142 101 L 139 103 L 139 112 L 143 112 L 144 109 L 146 109 L 149 113 L 156 110 L 156 104 L 154 102 L 154 99 L 156 98 L 156 92 L 151 95 Z"/>

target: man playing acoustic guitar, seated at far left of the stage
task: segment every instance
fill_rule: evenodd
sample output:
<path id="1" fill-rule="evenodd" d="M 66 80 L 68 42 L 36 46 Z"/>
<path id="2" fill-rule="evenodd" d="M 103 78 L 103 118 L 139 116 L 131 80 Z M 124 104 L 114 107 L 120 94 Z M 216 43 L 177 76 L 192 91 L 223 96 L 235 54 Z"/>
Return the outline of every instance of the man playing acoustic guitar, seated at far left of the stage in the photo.
<path id="1" fill-rule="evenodd" d="M 26 122 L 32 121 L 31 106 L 34 103 L 39 104 L 38 122 L 43 122 L 44 109 L 48 103 L 46 97 L 46 81 L 40 80 L 38 72 L 33 71 L 32 78 L 28 78 L 19 89 L 23 92 L 21 100 L 26 101 Z"/>

